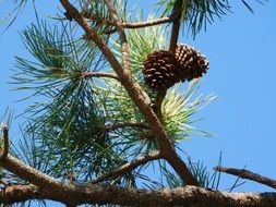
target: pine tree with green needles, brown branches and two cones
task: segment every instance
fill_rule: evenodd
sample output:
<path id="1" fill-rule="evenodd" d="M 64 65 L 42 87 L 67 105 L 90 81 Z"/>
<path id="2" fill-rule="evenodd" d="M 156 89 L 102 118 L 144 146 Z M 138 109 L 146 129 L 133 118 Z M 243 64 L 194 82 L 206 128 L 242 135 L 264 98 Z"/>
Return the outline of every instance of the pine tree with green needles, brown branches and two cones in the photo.
<path id="1" fill-rule="evenodd" d="M 15 1 L 16 9 L 24 3 Z M 215 188 L 216 173 L 211 175 L 178 147 L 191 134 L 212 135 L 194 129 L 193 114 L 216 98 L 195 97 L 208 60 L 178 36 L 183 27 L 195 37 L 230 11 L 227 0 L 159 0 L 148 16 L 127 0 L 60 3 L 53 20 L 39 20 L 21 33 L 33 59 L 15 57 L 12 78 L 16 89 L 39 101 L 24 111 L 19 144 L 9 144 L 11 118 L 4 115 L 2 204 L 273 203 L 272 195 L 262 195 L 260 204 L 260 195 L 239 200 L 208 190 Z M 152 169 L 164 179 L 152 178 Z"/>

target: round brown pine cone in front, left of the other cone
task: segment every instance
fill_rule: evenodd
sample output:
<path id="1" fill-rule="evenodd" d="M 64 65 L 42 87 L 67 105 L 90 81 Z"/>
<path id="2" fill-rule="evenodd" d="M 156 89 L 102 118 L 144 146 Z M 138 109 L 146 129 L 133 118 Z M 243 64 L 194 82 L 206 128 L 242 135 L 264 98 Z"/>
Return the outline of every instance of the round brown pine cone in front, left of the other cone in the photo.
<path id="1" fill-rule="evenodd" d="M 144 61 L 145 83 L 154 90 L 167 89 L 176 83 L 178 61 L 166 50 L 154 51 Z"/>

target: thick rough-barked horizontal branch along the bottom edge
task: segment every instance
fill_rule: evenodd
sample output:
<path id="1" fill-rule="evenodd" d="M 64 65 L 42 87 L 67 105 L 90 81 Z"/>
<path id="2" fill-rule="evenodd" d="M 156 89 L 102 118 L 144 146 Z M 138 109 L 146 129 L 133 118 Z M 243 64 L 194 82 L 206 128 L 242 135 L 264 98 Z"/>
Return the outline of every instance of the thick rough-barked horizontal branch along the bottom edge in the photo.
<path id="1" fill-rule="evenodd" d="M 73 194 L 74 193 L 74 194 Z M 29 185 L 14 185 L 0 191 L 2 204 L 28 199 L 51 199 L 71 205 L 113 204 L 122 206 L 185 207 L 275 207 L 276 193 L 227 193 L 196 186 L 146 191 L 112 185 L 70 185 L 63 196 Z"/>

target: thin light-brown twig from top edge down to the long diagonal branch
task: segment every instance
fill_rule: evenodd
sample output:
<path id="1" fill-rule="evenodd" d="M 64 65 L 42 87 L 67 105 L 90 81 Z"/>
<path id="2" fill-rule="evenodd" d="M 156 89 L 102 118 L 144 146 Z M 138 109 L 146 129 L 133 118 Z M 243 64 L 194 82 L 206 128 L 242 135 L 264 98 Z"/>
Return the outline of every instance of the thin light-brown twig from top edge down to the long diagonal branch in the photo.
<path id="1" fill-rule="evenodd" d="M 128 46 L 127 35 L 125 35 L 123 26 L 122 26 L 122 22 L 120 21 L 111 1 L 105 0 L 105 2 L 110 11 L 111 17 L 113 19 L 113 24 L 115 24 L 116 28 L 118 29 L 119 38 L 121 40 L 123 69 L 127 71 L 127 73 L 130 73 L 129 46 Z"/>

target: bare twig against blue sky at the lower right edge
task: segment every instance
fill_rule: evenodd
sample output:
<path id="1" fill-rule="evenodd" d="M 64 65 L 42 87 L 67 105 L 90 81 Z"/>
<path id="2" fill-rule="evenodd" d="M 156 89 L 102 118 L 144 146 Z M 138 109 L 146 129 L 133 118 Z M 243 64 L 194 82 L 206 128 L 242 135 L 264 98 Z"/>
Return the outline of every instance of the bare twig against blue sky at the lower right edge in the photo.
<path id="1" fill-rule="evenodd" d="M 219 171 L 219 172 L 225 172 L 225 173 L 228 173 L 228 174 L 233 174 L 233 175 L 237 175 L 239 178 L 255 181 L 257 183 L 262 183 L 264 185 L 276 188 L 276 181 L 275 180 L 263 176 L 263 175 L 254 173 L 254 172 L 251 172 L 251 171 L 245 170 L 245 169 L 215 167 L 214 170 Z"/>

